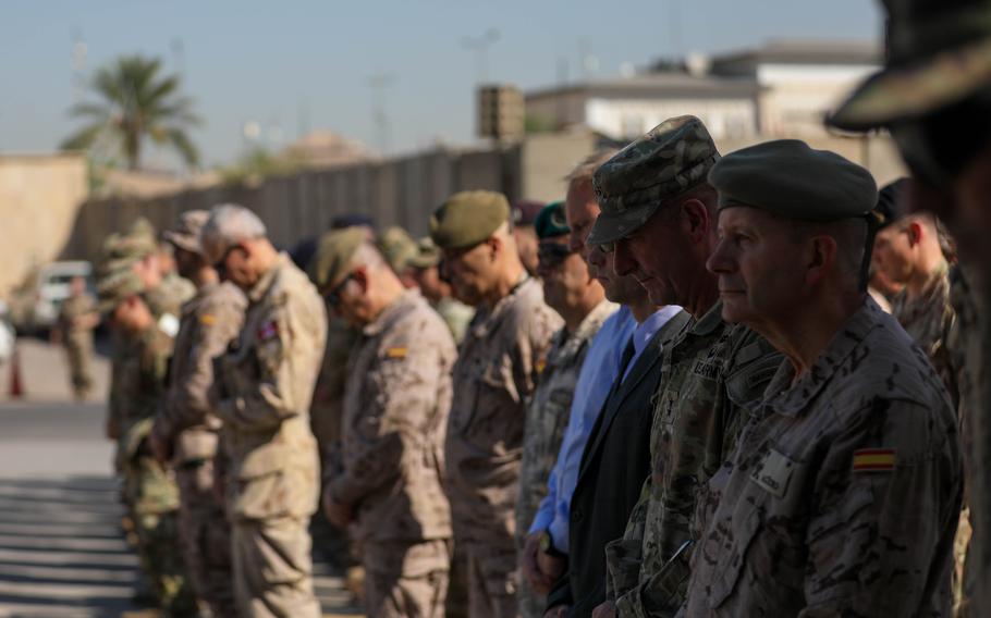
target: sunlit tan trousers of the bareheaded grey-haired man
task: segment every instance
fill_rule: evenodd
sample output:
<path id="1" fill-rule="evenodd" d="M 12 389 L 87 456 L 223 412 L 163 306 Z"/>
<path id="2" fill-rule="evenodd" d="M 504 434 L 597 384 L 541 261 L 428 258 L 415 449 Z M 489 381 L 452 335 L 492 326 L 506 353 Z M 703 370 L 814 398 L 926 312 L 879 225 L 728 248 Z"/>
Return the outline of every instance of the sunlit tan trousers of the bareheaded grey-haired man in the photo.
<path id="1" fill-rule="evenodd" d="M 308 518 L 241 520 L 232 528 L 234 600 L 244 618 L 320 618 Z"/>

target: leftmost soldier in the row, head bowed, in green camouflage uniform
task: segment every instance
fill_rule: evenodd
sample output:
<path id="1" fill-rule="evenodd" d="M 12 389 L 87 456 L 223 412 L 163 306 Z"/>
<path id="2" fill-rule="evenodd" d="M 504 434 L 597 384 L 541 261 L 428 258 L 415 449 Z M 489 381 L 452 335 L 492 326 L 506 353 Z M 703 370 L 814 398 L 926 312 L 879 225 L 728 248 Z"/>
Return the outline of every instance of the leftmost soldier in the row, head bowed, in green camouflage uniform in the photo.
<path id="1" fill-rule="evenodd" d="M 123 474 L 125 507 L 151 593 L 166 616 L 195 616 L 196 602 L 178 543 L 179 491 L 172 471 L 155 459 L 148 444 L 173 342 L 156 323 L 143 292 L 144 284 L 127 268 L 110 272 L 99 284 L 99 309 L 109 314 L 127 346 L 117 376 L 121 397 L 117 467 Z"/>

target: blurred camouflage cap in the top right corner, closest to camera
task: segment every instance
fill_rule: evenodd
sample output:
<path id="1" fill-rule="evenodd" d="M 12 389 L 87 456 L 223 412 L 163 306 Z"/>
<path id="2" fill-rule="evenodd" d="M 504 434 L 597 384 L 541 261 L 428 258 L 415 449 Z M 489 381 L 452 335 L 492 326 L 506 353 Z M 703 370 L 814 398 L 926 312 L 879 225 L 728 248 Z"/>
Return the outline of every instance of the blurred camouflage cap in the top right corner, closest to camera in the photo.
<path id="1" fill-rule="evenodd" d="M 991 3 L 885 0 L 891 20 L 886 66 L 828 119 L 847 131 L 909 121 L 991 85 Z"/>

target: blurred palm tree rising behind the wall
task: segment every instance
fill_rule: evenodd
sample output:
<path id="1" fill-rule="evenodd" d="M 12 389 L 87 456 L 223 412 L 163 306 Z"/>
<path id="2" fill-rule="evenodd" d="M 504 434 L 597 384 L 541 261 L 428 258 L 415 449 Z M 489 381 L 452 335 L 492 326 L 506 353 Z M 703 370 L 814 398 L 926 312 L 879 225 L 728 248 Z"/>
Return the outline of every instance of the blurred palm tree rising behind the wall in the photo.
<path id="1" fill-rule="evenodd" d="M 62 143 L 65 150 L 110 147 L 127 162 L 140 165 L 145 139 L 174 148 L 191 168 L 199 153 L 186 129 L 199 124 L 193 100 L 179 92 L 179 75 L 161 75 L 156 58 L 125 55 L 97 71 L 90 89 L 100 102 L 74 106 L 70 115 L 87 124 Z"/>

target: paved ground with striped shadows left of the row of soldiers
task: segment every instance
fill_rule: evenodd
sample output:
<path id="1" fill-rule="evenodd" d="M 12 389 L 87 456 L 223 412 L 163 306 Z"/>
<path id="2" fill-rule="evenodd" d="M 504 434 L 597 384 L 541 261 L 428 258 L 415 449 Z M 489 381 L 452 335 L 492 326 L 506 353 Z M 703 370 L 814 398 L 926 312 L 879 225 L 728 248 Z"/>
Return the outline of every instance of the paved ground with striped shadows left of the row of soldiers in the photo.
<path id="1" fill-rule="evenodd" d="M 60 350 L 26 343 L 29 399 L 0 401 L 0 618 L 120 616 L 133 609 L 137 560 L 120 529 L 103 406 L 65 403 Z M 326 560 L 316 572 L 325 613 L 357 614 Z"/>

